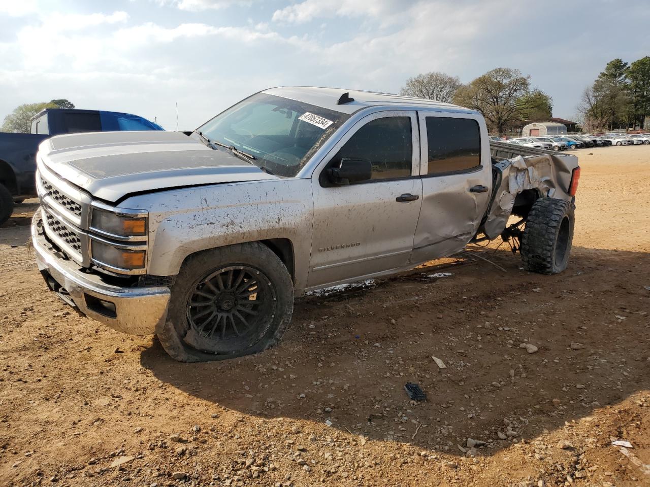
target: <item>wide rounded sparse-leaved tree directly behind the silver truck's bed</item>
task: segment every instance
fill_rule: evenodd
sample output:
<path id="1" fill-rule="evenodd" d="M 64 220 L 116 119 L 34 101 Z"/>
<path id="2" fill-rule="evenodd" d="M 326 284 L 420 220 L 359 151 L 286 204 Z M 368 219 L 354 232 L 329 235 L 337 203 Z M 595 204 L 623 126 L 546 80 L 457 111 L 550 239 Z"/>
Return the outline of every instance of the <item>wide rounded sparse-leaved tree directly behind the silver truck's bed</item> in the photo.
<path id="1" fill-rule="evenodd" d="M 508 123 L 523 118 L 527 105 L 522 97 L 529 89 L 530 76 L 522 75 L 519 69 L 497 68 L 461 86 L 454 101 L 477 110 L 502 133 Z"/>

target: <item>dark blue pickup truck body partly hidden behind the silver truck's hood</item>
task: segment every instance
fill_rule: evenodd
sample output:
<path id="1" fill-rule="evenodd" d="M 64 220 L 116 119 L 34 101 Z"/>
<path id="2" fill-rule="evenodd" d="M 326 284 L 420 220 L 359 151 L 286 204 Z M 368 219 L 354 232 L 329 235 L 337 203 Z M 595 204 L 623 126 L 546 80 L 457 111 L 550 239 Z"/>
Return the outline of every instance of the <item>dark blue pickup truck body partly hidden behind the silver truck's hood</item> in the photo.
<path id="1" fill-rule="evenodd" d="M 0 132 L 0 225 L 11 216 L 14 202 L 36 195 L 34 156 L 46 138 L 78 132 L 161 130 L 160 125 L 128 113 L 47 108 L 32 118 L 31 134 Z"/>

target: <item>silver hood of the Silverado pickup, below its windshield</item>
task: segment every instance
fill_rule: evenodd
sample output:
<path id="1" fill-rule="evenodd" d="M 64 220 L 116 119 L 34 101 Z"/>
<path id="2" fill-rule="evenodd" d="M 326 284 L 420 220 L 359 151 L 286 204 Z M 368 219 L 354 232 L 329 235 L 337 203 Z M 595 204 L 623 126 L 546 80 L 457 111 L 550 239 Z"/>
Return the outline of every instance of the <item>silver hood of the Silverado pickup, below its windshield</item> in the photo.
<path id="1" fill-rule="evenodd" d="M 222 182 L 278 179 L 228 149 L 183 132 L 91 132 L 42 142 L 37 160 L 105 201 L 125 195 Z"/>

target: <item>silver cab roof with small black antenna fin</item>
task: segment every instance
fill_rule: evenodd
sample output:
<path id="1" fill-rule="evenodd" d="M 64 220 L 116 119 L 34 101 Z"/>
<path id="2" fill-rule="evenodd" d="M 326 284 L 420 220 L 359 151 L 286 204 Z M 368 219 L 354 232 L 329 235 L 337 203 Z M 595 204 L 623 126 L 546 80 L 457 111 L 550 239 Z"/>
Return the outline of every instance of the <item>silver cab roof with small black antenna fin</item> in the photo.
<path id="1" fill-rule="evenodd" d="M 442 101 L 427 100 L 424 98 L 415 98 L 402 95 L 393 95 L 390 93 L 365 92 L 361 90 L 344 90 L 343 88 L 320 88 L 318 86 L 278 86 L 269 88 L 263 93 L 269 95 L 281 96 L 292 100 L 302 101 L 311 105 L 322 106 L 329 110 L 345 114 L 353 114 L 369 106 L 412 106 L 413 108 L 424 108 L 427 110 L 438 110 L 441 112 L 459 112 L 475 114 L 469 108 L 452 105 L 452 103 L 443 103 Z M 337 102 L 341 95 L 349 94 L 354 101 L 342 103 Z"/>

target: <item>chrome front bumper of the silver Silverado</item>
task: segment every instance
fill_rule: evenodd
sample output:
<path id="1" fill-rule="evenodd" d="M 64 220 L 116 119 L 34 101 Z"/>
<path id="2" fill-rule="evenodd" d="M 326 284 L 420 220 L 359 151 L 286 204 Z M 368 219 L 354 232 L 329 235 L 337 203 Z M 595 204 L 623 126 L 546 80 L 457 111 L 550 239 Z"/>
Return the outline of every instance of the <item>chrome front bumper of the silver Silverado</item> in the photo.
<path id="1" fill-rule="evenodd" d="M 32 244 L 36 264 L 50 290 L 68 305 L 116 331 L 131 335 L 155 332 L 167 317 L 170 290 L 166 286 L 123 288 L 85 273 L 72 260 L 53 249 L 43 233 L 41 212 L 32 219 Z"/>

